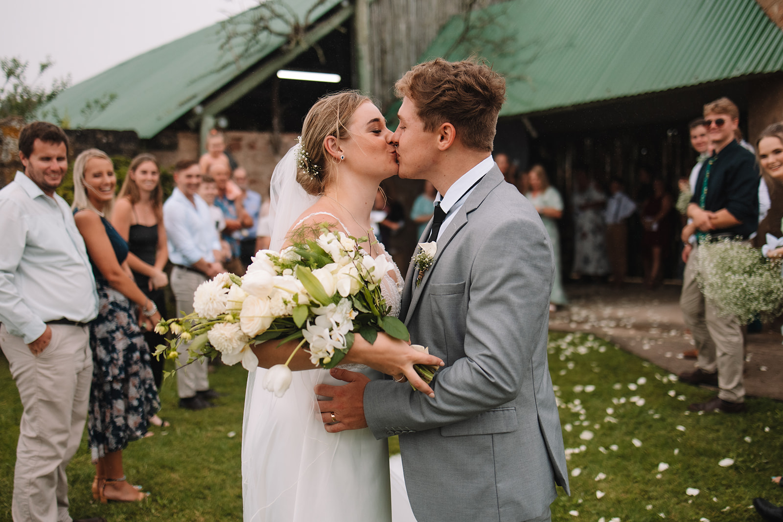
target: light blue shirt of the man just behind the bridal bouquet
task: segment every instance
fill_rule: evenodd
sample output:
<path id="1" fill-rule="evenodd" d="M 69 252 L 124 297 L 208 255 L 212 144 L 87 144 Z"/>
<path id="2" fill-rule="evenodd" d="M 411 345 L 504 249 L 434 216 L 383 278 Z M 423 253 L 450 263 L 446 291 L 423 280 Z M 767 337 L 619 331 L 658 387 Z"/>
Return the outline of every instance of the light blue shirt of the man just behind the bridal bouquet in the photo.
<path id="1" fill-rule="evenodd" d="M 168 259 L 174 265 L 191 266 L 199 259 L 215 262 L 220 238 L 209 205 L 198 194 L 190 203 L 185 194 L 174 189 L 163 204 L 163 223 L 168 236 Z"/>

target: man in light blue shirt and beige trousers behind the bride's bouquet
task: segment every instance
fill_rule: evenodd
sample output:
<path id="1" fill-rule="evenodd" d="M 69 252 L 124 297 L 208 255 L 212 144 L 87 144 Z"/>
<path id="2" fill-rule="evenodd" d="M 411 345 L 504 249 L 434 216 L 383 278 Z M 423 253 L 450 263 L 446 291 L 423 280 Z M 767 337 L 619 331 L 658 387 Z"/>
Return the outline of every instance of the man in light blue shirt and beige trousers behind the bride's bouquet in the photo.
<path id="1" fill-rule="evenodd" d="M 177 314 L 193 311 L 193 293 L 201 283 L 224 272 L 215 260 L 220 257 L 220 239 L 212 222 L 209 206 L 197 194 L 201 171 L 195 161 L 181 160 L 174 167 L 176 188 L 163 205 L 163 221 L 168 236 L 171 292 L 177 301 Z M 179 362 L 189 358 L 188 346 L 179 347 Z M 177 371 L 180 408 L 204 409 L 207 400 L 218 394 L 209 387 L 206 362 L 193 362 Z"/>

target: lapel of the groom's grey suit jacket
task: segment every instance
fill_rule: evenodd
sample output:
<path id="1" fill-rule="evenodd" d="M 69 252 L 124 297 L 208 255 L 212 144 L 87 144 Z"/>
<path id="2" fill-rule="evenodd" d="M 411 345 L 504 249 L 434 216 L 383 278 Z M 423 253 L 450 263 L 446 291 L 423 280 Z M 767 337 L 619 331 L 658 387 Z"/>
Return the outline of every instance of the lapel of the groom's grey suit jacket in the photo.
<path id="1" fill-rule="evenodd" d="M 462 227 L 467 225 L 468 215 L 478 208 L 482 201 L 485 200 L 486 196 L 488 196 L 489 193 L 497 185 L 499 185 L 502 180 L 503 175 L 500 174 L 500 169 L 498 169 L 496 166 L 493 166 L 491 169 L 489 169 L 489 172 L 484 175 L 482 180 L 478 182 L 478 185 L 475 186 L 471 195 L 467 196 L 465 203 L 456 212 L 454 218 L 449 222 L 449 225 L 441 234 L 440 239 L 438 239 L 438 250 L 435 252 L 435 260 L 432 261 L 431 267 L 426 272 L 424 272 L 424 277 L 421 279 L 419 286 L 416 286 L 415 280 L 418 275 L 418 270 L 414 269 L 415 267 L 413 267 L 413 263 L 411 263 L 410 267 L 408 268 L 408 274 L 406 276 L 405 291 L 402 293 L 402 302 L 409 302 L 406 297 L 410 296 L 410 304 L 408 304 L 407 308 L 402 308 L 400 311 L 400 316 L 405 317 L 406 324 L 408 324 L 410 318 L 413 316 L 413 311 L 416 310 L 416 305 L 418 304 L 421 295 L 424 293 L 424 289 L 425 286 L 427 286 L 430 274 L 435 270 L 435 265 L 438 265 L 438 259 L 442 257 L 443 253 L 449 247 L 449 243 L 452 242 L 452 239 L 454 239 L 456 233 L 459 232 Z M 425 235 L 422 237 L 429 235 L 431 226 L 432 221 L 430 220 L 427 230 L 424 232 Z"/>

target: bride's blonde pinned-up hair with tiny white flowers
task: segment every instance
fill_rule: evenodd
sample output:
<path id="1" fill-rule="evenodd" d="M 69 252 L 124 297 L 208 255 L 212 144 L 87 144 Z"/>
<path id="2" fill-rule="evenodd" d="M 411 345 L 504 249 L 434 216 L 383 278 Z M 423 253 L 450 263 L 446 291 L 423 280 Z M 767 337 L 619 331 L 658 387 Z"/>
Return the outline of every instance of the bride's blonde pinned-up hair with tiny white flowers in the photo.
<path id="1" fill-rule="evenodd" d="M 323 194 L 323 189 L 336 163 L 323 148 L 323 140 L 334 136 L 337 141 L 348 135 L 348 122 L 356 109 L 370 98 L 358 91 L 343 91 L 324 96 L 313 105 L 301 128 L 302 147 L 297 164 L 296 180 L 312 196 Z"/>

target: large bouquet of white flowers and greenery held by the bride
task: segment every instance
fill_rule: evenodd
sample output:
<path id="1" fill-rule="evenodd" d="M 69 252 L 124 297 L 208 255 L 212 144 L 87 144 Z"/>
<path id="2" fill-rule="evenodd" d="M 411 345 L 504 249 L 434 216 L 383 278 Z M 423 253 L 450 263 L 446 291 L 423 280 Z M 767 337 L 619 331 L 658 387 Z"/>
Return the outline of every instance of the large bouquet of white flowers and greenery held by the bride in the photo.
<path id="1" fill-rule="evenodd" d="M 263 386 L 282 397 L 290 385 L 288 364 L 305 344 L 312 364 L 329 369 L 345 357 L 357 333 L 370 344 L 379 331 L 408 340 L 408 329 L 388 315 L 381 295 L 391 263 L 364 254 L 359 243 L 366 238 L 322 232 L 280 253 L 260 250 L 241 278 L 222 273 L 202 283 L 192 314 L 156 326 L 157 333 L 176 335 L 156 355 L 176 358 L 177 347 L 191 342 L 188 362 L 219 354 L 225 364 L 242 362 L 252 372 L 258 367 L 252 344 L 299 339 L 287 362 L 265 374 Z M 417 372 L 429 383 L 435 368 L 417 365 Z"/>

